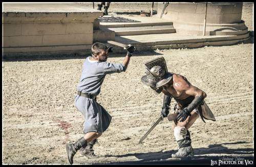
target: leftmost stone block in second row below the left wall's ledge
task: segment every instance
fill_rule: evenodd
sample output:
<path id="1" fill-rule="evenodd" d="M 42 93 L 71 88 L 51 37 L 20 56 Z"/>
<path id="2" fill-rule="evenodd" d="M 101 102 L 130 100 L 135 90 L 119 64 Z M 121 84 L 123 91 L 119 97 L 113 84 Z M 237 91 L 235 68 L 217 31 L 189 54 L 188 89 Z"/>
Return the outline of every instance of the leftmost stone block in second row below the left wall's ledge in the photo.
<path id="1" fill-rule="evenodd" d="M 41 46 L 42 36 L 3 37 L 4 47 Z"/>

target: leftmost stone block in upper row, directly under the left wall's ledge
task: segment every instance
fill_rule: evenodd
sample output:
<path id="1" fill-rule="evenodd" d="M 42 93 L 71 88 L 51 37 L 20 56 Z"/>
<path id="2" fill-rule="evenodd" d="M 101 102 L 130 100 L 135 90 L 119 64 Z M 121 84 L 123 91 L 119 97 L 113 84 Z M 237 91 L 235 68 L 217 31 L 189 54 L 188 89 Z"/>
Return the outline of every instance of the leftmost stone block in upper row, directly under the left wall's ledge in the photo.
<path id="1" fill-rule="evenodd" d="M 16 23 L 2 23 L 3 36 L 20 36 L 22 35 L 22 25 Z"/>

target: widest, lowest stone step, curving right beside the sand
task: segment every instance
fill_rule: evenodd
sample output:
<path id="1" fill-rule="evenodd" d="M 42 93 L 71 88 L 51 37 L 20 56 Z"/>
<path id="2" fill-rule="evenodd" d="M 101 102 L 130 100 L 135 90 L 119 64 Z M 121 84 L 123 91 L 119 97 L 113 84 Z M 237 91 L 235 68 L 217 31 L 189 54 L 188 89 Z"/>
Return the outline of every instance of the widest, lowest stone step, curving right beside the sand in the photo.
<path id="1" fill-rule="evenodd" d="M 150 34 L 115 37 L 106 44 L 113 46 L 114 52 L 125 52 L 124 45 L 132 44 L 138 51 L 169 48 L 197 48 L 203 46 L 233 45 L 249 39 L 249 32 L 233 36 L 186 36 L 184 34 Z"/>

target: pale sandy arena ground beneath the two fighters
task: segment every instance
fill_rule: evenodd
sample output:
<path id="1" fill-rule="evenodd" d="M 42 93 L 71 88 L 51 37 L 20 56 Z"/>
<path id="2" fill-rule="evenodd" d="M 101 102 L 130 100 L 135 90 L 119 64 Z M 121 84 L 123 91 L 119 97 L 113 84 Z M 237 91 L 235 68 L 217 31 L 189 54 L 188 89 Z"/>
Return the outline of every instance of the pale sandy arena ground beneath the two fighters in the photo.
<path id="1" fill-rule="evenodd" d="M 135 7 L 130 4 L 130 12 Z M 251 4 L 244 5 L 242 19 L 251 31 Z M 106 157 L 92 160 L 77 153 L 74 163 L 163 161 L 176 152 L 173 123 L 167 119 L 138 144 L 161 111 L 163 94 L 156 95 L 140 81 L 143 64 L 159 56 L 165 58 L 168 71 L 184 75 L 207 93 L 205 101 L 215 114 L 216 122 L 198 119 L 190 128 L 195 158 L 254 155 L 252 43 L 136 54 L 126 72 L 105 77 L 98 96 L 113 117 L 94 147 L 95 154 Z M 123 56 L 112 54 L 108 61 L 121 63 Z M 68 164 L 65 144 L 82 136 L 83 117 L 73 100 L 83 61 L 78 57 L 3 63 L 2 163 Z M 174 105 L 172 101 L 170 108 Z"/>

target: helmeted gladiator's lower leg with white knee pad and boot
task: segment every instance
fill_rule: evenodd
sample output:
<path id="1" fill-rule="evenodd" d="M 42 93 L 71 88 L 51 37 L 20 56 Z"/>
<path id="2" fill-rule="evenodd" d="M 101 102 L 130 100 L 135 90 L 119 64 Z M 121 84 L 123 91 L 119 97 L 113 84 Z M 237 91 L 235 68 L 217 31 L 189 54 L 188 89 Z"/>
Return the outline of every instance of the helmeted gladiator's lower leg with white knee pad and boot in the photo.
<path id="1" fill-rule="evenodd" d="M 172 154 L 173 158 L 185 158 L 194 155 L 193 148 L 191 147 L 190 133 L 185 127 L 176 126 L 174 128 L 174 135 L 179 146 L 177 153 Z"/>

